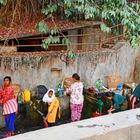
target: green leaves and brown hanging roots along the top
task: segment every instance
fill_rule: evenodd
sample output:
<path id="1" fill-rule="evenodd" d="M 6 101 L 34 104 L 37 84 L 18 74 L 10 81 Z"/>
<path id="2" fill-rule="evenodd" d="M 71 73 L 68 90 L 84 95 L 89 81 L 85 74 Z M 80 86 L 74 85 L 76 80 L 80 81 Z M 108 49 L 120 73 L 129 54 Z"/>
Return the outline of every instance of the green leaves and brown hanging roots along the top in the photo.
<path id="1" fill-rule="evenodd" d="M 55 25 L 55 18 L 60 19 L 84 19 L 88 21 L 100 20 L 101 29 L 110 32 L 111 26 L 122 24 L 125 27 L 126 39 L 132 47 L 137 47 L 140 40 L 140 3 L 129 3 L 127 0 L 0 0 L 1 19 L 12 17 L 11 26 L 16 22 L 41 14 L 44 18 L 51 18 Z M 11 12 L 12 11 L 12 12 Z M 40 12 L 41 11 L 41 12 Z M 10 14 L 9 14 L 10 13 Z M 8 22 L 9 23 L 9 22 Z M 49 33 L 50 37 L 44 40 L 42 46 L 47 48 L 51 43 L 63 43 L 69 45 L 69 40 L 53 38 L 53 35 L 61 34 L 57 26 L 49 29 L 42 20 L 37 26 L 42 33 Z M 115 34 L 118 33 L 116 30 Z"/>

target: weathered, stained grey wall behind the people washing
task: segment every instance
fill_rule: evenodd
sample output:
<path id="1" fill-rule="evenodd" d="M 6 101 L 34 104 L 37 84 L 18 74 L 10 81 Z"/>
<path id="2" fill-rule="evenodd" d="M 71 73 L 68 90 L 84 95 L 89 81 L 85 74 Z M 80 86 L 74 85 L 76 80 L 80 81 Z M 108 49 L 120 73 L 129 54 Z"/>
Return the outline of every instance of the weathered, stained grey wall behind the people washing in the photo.
<path id="1" fill-rule="evenodd" d="M 77 72 L 81 79 L 94 85 L 98 78 L 106 80 L 104 76 L 120 74 L 122 82 L 133 78 L 135 58 L 139 48 L 132 49 L 127 43 L 118 43 L 112 50 L 100 50 L 78 53 L 71 65 L 66 65 L 60 53 L 15 55 L 0 57 L 0 83 L 6 75 L 11 75 L 13 83 L 21 85 L 22 89 L 33 90 L 43 84 L 55 88 L 64 77 Z M 54 73 L 59 71 L 56 77 Z"/>

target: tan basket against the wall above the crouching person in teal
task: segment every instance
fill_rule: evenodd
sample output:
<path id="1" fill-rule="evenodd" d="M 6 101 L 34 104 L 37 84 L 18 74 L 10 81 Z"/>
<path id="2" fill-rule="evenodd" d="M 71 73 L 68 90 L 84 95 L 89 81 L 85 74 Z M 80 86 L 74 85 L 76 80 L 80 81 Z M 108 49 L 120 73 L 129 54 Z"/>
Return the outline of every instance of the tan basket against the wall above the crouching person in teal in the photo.
<path id="1" fill-rule="evenodd" d="M 106 76 L 107 86 L 109 89 L 116 89 L 117 85 L 121 83 L 120 75 L 108 75 Z"/>

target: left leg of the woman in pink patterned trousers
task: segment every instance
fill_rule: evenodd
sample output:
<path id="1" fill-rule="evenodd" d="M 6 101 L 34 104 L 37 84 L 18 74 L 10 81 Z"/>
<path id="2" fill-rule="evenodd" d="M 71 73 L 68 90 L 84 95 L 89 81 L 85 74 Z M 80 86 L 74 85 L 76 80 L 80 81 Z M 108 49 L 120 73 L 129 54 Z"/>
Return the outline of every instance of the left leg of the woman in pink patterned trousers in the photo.
<path id="1" fill-rule="evenodd" d="M 71 121 L 77 120 L 77 105 L 76 104 L 70 104 L 71 109 Z"/>

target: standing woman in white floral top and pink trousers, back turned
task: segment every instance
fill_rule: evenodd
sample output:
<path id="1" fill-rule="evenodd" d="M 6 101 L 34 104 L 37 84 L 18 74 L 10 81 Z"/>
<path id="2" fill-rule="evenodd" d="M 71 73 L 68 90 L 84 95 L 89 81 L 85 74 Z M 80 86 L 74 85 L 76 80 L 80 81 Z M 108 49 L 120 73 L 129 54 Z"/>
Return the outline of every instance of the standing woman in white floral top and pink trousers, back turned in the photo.
<path id="1" fill-rule="evenodd" d="M 83 83 L 77 73 L 73 74 L 72 78 L 74 83 L 67 89 L 67 92 L 70 93 L 71 121 L 79 121 L 84 102 Z"/>

